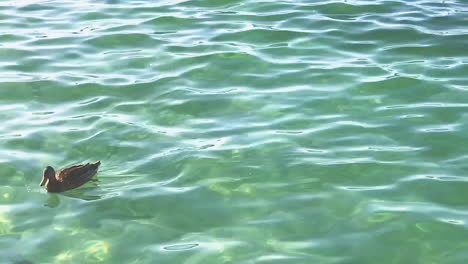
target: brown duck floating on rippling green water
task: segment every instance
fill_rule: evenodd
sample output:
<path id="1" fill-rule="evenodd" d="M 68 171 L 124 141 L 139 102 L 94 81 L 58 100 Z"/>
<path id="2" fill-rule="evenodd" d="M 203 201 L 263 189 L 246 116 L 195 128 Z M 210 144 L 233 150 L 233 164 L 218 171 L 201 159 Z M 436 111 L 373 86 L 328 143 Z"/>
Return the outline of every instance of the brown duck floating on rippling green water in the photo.
<path id="1" fill-rule="evenodd" d="M 93 176 L 96 175 L 100 161 L 95 163 L 86 163 L 71 166 L 61 171 L 55 172 L 54 168 L 47 166 L 42 176 L 40 186 L 45 186 L 47 192 L 59 193 L 75 189 L 94 180 Z"/>

